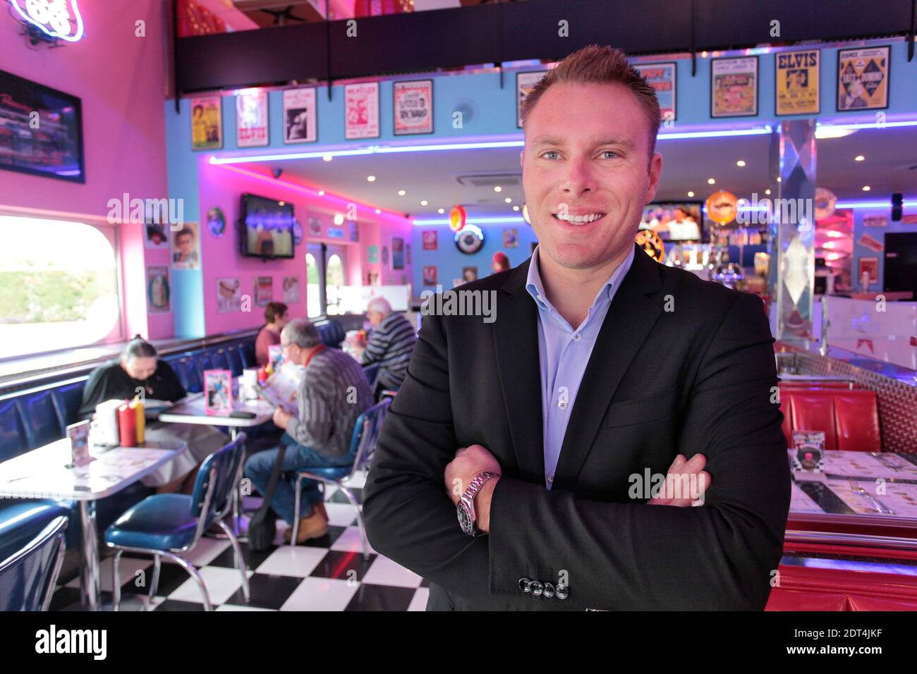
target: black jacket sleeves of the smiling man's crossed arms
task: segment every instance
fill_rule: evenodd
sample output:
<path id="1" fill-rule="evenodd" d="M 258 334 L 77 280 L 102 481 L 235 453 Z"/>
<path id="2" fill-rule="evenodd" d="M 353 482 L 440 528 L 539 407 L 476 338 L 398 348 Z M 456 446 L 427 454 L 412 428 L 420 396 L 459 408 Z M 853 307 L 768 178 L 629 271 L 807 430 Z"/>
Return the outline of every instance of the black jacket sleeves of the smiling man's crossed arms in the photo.
<path id="1" fill-rule="evenodd" d="M 459 530 L 444 485 L 457 442 L 445 332 L 428 316 L 364 492 L 370 543 L 481 606 L 519 597 L 523 576 L 563 574 L 569 608 L 763 609 L 782 552 L 790 472 L 758 302 L 737 298 L 692 382 L 678 450 L 706 458 L 702 506 L 602 503 L 502 476 L 489 489 L 490 535 L 476 539 Z"/>

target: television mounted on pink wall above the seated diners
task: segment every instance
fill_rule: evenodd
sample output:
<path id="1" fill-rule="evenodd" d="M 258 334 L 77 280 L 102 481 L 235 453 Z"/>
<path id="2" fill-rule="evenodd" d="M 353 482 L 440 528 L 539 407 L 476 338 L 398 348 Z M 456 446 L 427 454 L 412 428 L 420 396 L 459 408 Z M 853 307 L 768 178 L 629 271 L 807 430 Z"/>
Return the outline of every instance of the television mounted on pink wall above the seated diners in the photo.
<path id="1" fill-rule="evenodd" d="M 293 258 L 293 204 L 242 194 L 239 248 L 247 258 Z"/>

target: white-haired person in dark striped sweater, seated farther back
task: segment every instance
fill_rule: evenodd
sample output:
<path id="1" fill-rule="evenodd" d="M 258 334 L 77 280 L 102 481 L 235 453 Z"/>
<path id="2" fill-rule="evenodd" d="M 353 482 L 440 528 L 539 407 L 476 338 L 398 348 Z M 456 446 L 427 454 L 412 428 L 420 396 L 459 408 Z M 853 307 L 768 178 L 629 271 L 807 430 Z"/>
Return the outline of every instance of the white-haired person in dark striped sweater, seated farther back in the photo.
<path id="1" fill-rule="evenodd" d="M 417 332 L 403 314 L 392 312 L 392 304 L 384 297 L 370 300 L 366 316 L 372 324 L 370 338 L 366 342 L 358 340 L 353 348 L 361 365 L 379 363 L 379 375 L 375 381 L 375 393 L 378 395 L 402 385 L 417 343 Z"/>

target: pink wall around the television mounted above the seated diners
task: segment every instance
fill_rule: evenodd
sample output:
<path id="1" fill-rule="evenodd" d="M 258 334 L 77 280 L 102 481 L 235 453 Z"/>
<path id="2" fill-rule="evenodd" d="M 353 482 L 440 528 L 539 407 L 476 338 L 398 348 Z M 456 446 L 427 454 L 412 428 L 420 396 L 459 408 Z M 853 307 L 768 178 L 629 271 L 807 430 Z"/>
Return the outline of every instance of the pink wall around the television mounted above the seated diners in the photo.
<path id="1" fill-rule="evenodd" d="M 228 332 L 247 327 L 260 326 L 264 322 L 263 309 L 254 304 L 254 285 L 257 277 L 271 276 L 273 279 L 273 299 L 283 301 L 282 280 L 284 276 L 299 276 L 300 302 L 290 304 L 290 314 L 306 315 L 306 270 L 305 254 L 308 243 L 325 241 L 328 244 L 343 245 L 348 250 L 348 280 L 352 285 L 366 284 L 367 271 L 381 271 L 381 283 L 401 284 L 410 282 L 411 265 L 405 265 L 404 271 L 391 271 L 391 259 L 386 270 L 381 264 L 369 265 L 366 261 L 366 248 L 370 245 L 391 247 L 390 238 L 403 237 L 405 243 L 411 241 L 411 226 L 408 220 L 388 214 L 376 215 L 372 209 L 358 208 L 359 243 L 351 243 L 340 238 L 321 238 L 308 236 L 304 232 L 304 241 L 296 246 L 296 257 L 293 260 L 262 261 L 244 258 L 238 252 L 238 232 L 236 222 L 239 217 L 239 197 L 242 193 L 254 193 L 279 201 L 293 204 L 296 219 L 307 230 L 309 216 L 318 217 L 323 227 L 331 224 L 336 213 L 344 211 L 344 201 L 338 202 L 332 197 L 318 197 L 304 193 L 303 188 L 317 189 L 315 185 L 306 185 L 295 178 L 284 176 L 282 180 L 273 178 L 260 167 L 226 167 L 213 166 L 204 155 L 198 158 L 198 199 L 201 226 L 201 258 L 204 280 L 204 329 L 210 334 Z M 206 227 L 206 214 L 212 207 L 219 207 L 226 215 L 226 232 L 222 237 L 214 237 Z M 221 277 L 238 278 L 242 293 L 252 298 L 250 313 L 217 313 L 217 282 Z M 402 278 L 403 277 L 403 278 Z"/>

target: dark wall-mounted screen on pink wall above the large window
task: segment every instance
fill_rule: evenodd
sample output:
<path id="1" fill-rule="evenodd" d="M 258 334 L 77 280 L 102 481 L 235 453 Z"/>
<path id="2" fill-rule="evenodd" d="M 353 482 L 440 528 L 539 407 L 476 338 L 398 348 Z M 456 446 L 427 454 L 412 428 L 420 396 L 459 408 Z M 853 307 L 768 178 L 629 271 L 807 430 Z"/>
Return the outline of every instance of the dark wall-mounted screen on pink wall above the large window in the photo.
<path id="1" fill-rule="evenodd" d="M 80 99 L 0 71 L 0 169 L 86 182 Z"/>

